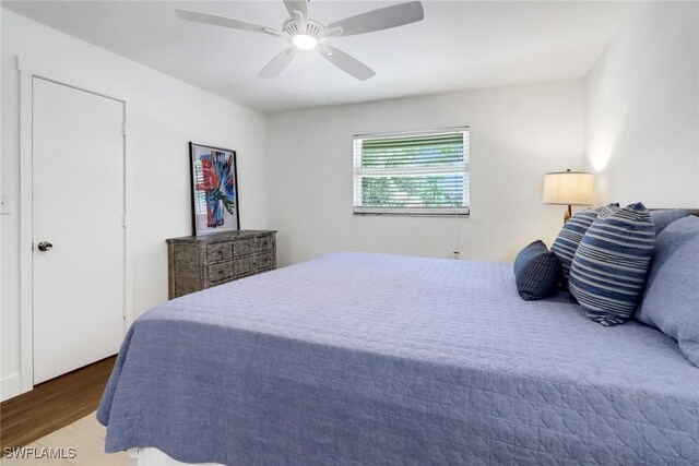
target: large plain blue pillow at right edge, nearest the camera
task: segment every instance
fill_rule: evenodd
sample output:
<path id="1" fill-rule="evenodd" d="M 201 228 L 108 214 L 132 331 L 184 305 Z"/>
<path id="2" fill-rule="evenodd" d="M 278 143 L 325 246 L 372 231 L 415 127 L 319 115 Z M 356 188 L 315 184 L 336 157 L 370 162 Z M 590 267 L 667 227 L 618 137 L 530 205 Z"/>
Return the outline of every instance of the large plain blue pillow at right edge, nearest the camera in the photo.
<path id="1" fill-rule="evenodd" d="M 655 241 L 636 319 L 679 343 L 699 367 L 699 217 L 673 222 Z"/>

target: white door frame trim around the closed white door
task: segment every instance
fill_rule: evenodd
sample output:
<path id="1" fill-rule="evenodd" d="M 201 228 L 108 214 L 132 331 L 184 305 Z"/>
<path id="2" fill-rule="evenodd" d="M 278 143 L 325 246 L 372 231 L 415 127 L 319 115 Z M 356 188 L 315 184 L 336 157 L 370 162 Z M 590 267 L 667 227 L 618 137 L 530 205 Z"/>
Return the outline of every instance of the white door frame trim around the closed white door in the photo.
<path id="1" fill-rule="evenodd" d="M 33 83 L 34 79 L 71 87 L 99 97 L 121 103 L 123 111 L 122 131 L 122 186 L 123 186 L 123 311 L 122 333 L 133 321 L 133 260 L 131 244 L 133 243 L 132 228 L 128 228 L 128 214 L 131 212 L 128 136 L 127 136 L 127 101 L 114 97 L 106 92 L 88 89 L 72 85 L 62 80 L 54 79 L 51 73 L 38 73 L 17 57 L 20 72 L 20 377 L 21 393 L 34 389 L 34 289 L 33 289 Z"/>

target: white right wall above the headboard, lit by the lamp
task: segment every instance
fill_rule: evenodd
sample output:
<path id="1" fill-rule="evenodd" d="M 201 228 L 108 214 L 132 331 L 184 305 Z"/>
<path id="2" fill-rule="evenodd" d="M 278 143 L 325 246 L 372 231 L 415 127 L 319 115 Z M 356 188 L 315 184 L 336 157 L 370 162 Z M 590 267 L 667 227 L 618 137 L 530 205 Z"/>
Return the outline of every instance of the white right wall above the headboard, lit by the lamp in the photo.
<path id="1" fill-rule="evenodd" d="M 600 202 L 699 206 L 699 3 L 637 7 L 585 80 Z"/>

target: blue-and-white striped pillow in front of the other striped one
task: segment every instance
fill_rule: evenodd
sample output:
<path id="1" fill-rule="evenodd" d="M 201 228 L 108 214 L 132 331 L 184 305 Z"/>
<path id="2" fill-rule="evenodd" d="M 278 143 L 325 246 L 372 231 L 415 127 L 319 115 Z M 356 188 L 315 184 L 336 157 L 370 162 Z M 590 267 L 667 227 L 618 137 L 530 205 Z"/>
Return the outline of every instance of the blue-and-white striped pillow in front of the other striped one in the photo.
<path id="1" fill-rule="evenodd" d="M 597 218 L 580 241 L 570 267 L 570 292 L 590 319 L 626 322 L 643 292 L 655 226 L 643 204 Z"/>

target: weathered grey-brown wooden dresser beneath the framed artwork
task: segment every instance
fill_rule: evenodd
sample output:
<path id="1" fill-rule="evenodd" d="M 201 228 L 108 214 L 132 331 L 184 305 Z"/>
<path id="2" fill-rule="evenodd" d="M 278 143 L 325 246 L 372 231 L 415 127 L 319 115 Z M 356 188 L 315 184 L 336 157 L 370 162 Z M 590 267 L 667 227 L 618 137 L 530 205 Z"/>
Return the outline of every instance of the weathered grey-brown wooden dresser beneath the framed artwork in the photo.
<path id="1" fill-rule="evenodd" d="M 169 299 L 274 270 L 275 234 L 239 230 L 168 239 Z"/>

